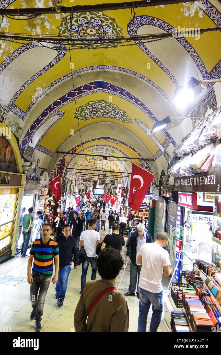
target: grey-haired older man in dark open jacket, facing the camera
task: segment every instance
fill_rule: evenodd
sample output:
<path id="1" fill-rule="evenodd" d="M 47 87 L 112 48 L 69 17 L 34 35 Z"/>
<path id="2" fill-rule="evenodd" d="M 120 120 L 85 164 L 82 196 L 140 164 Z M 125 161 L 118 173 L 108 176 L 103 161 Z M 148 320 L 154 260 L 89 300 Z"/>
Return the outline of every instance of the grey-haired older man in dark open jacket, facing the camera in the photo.
<path id="1" fill-rule="evenodd" d="M 141 247 L 145 243 L 152 243 L 152 242 L 153 242 L 152 237 L 150 233 L 148 233 L 147 229 L 145 229 L 144 224 L 139 223 L 138 230 L 131 234 L 127 246 L 126 261 L 130 260 L 130 285 L 128 288 L 128 292 L 124 294 L 125 296 L 135 296 L 135 291 L 136 291 L 136 294 L 139 298 L 138 286 L 136 290 L 136 280 L 138 277 L 138 285 L 139 285 L 141 265 L 137 264 L 137 259 Z"/>

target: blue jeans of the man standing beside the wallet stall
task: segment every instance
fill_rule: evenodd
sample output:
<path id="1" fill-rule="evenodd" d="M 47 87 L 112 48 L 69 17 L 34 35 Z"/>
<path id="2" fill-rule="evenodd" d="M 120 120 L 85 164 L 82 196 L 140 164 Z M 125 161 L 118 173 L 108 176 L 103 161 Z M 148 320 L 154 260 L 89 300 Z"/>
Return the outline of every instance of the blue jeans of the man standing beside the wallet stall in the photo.
<path id="1" fill-rule="evenodd" d="M 163 291 L 160 293 L 153 293 L 139 287 L 139 318 L 138 318 L 138 332 L 146 332 L 147 315 L 152 304 L 152 317 L 150 322 L 150 332 L 156 332 L 160 325 L 161 314 L 163 311 Z"/>

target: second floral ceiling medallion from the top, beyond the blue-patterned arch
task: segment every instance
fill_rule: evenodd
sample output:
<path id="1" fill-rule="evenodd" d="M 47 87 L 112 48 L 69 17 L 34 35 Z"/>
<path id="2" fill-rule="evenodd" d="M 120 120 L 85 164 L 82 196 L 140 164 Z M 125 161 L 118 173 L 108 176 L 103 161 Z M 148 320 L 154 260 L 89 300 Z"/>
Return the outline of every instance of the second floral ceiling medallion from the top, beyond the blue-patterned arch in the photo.
<path id="1" fill-rule="evenodd" d="M 117 121 L 132 124 L 133 122 L 125 111 L 104 100 L 90 101 L 79 107 L 74 118 L 79 120 L 90 120 L 94 118 L 113 118 Z"/>

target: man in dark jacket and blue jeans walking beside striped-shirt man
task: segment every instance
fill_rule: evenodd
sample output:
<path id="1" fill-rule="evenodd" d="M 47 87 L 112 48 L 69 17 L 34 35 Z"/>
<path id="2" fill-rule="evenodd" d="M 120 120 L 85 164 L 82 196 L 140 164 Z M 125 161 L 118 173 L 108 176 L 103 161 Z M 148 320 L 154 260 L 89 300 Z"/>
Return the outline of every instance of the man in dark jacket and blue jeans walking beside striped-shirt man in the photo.
<path id="1" fill-rule="evenodd" d="M 70 225 L 64 224 L 62 226 L 62 235 L 55 237 L 55 241 L 58 243 L 59 249 L 58 281 L 56 282 L 55 287 L 55 298 L 58 299 L 58 307 L 63 306 L 72 261 L 74 262 L 74 269 L 76 269 L 79 263 L 77 242 L 76 239 L 70 235 L 70 233 Z"/>

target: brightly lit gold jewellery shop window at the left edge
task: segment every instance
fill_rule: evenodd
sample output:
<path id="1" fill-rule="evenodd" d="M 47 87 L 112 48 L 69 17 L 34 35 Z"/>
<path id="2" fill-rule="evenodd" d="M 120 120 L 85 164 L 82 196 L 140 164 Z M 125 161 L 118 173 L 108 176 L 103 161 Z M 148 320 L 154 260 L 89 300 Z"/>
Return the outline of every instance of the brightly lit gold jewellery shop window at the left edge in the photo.
<path id="1" fill-rule="evenodd" d="M 5 190 L 5 191 L 3 191 Z M 10 191 L 13 190 L 13 191 Z M 6 193 L 12 192 L 12 193 Z M 5 194 L 4 194 L 5 193 Z M 0 195 L 0 251 L 10 245 L 14 216 L 16 189 L 2 189 Z"/>

